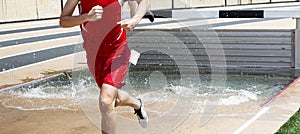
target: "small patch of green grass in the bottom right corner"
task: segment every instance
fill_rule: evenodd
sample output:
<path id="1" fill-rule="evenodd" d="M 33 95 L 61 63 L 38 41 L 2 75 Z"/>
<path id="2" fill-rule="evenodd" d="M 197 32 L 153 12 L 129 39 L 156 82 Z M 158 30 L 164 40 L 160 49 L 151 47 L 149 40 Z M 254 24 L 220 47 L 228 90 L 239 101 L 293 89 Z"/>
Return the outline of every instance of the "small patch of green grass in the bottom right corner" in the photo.
<path id="1" fill-rule="evenodd" d="M 276 132 L 276 134 L 300 133 L 300 109 Z"/>

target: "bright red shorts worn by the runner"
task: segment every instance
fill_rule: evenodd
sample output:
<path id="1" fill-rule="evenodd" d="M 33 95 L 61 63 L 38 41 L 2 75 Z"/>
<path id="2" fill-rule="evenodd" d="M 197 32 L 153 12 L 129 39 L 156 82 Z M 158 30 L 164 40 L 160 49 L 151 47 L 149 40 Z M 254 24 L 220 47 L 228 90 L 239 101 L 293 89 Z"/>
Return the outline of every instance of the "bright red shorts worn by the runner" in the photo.
<path id="1" fill-rule="evenodd" d="M 110 44 L 101 44 L 98 51 L 92 44 L 84 43 L 88 67 L 100 88 L 102 84 L 109 84 L 118 89 L 124 85 L 130 50 L 126 41 L 126 33 L 123 32 L 120 37 L 121 39 Z"/>

